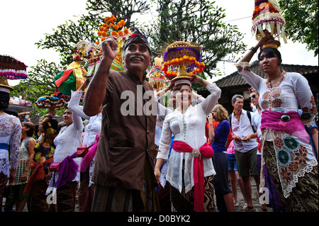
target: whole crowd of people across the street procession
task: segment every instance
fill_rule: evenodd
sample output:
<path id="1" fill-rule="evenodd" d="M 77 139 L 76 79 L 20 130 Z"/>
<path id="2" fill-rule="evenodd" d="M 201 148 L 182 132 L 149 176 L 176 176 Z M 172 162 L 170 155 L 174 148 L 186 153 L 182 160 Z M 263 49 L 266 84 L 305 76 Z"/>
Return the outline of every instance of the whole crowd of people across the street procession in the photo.
<path id="1" fill-rule="evenodd" d="M 306 79 L 281 72 L 280 52 L 264 46 L 271 35 L 237 63 L 252 86 L 254 112 L 236 94 L 228 114 L 218 104 L 218 86 L 197 74 L 155 94 L 145 76 L 150 45 L 134 33 L 123 47 L 124 72 L 110 69 L 116 38 L 103 41 L 99 69 L 72 91 L 62 126 L 50 108 L 34 135 L 32 122 L 5 113 L 10 90 L 0 89 L 1 201 L 9 188 L 4 210 L 74 212 L 78 203 L 81 212 L 233 212 L 238 183 L 245 211 L 254 212 L 252 176 L 259 196 L 268 188 L 274 211 L 318 211 L 317 108 Z M 259 48 L 267 79 L 248 67 Z M 194 94 L 192 83 L 210 94 Z M 169 90 L 171 108 L 157 101 Z M 259 211 L 267 211 L 266 203 Z"/>

